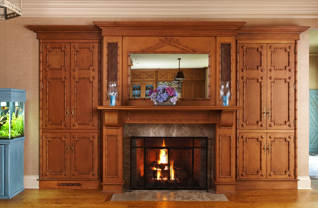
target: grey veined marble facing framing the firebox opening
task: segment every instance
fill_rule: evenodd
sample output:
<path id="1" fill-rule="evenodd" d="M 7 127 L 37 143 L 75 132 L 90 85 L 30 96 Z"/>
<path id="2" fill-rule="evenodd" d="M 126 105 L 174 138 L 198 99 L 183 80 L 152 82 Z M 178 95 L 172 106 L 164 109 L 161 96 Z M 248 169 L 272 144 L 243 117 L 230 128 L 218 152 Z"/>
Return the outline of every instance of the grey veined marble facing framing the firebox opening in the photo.
<path id="1" fill-rule="evenodd" d="M 124 123 L 124 178 L 130 184 L 130 137 L 131 136 L 207 136 L 208 137 L 208 187 L 213 178 L 214 124 L 184 123 Z"/>

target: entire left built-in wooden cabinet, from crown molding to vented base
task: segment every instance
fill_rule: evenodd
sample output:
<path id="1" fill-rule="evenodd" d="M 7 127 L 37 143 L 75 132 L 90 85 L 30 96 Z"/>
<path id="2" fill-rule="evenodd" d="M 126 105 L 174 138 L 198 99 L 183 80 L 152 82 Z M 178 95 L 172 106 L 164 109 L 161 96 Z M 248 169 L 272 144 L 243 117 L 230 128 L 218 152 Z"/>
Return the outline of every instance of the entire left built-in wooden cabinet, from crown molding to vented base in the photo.
<path id="1" fill-rule="evenodd" d="M 39 187 L 99 189 L 101 32 L 28 27 L 39 39 Z"/>

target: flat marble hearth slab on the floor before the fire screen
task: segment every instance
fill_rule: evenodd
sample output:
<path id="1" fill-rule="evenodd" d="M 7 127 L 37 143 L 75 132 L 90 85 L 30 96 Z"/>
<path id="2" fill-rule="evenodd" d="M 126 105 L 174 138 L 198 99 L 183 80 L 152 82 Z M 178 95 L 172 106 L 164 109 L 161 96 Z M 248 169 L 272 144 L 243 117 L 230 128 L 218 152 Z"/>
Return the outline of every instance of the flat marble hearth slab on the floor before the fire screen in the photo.
<path id="1" fill-rule="evenodd" d="M 111 201 L 228 201 L 224 194 L 209 190 L 125 190 Z"/>

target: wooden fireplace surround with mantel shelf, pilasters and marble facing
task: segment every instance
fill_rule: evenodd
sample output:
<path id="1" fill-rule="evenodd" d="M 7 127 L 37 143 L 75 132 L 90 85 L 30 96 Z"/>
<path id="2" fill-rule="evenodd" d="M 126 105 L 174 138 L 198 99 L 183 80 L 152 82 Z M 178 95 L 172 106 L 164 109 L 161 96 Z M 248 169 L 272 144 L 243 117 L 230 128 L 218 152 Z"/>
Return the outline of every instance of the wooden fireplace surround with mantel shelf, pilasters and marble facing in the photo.
<path id="1" fill-rule="evenodd" d="M 235 192 L 235 112 L 238 106 L 98 106 L 102 110 L 103 191 L 129 185 L 130 135 L 208 137 L 208 188 Z M 154 133 L 153 129 L 160 129 Z M 153 132 L 153 133 L 151 133 Z M 212 148 L 213 147 L 213 148 Z M 127 163 L 127 161 L 129 161 Z M 128 169 L 128 171 L 127 171 Z"/>

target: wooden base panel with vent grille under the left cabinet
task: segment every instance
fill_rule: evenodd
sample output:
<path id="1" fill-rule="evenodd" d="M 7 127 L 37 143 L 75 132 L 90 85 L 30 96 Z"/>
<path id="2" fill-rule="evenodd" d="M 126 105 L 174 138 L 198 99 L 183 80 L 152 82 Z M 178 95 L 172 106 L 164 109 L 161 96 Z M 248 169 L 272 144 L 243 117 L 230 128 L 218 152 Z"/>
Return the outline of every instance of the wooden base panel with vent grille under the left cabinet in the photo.
<path id="1" fill-rule="evenodd" d="M 40 189 L 102 189 L 102 180 L 39 179 Z"/>

